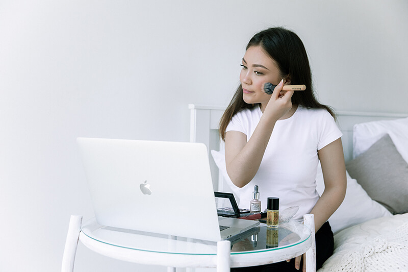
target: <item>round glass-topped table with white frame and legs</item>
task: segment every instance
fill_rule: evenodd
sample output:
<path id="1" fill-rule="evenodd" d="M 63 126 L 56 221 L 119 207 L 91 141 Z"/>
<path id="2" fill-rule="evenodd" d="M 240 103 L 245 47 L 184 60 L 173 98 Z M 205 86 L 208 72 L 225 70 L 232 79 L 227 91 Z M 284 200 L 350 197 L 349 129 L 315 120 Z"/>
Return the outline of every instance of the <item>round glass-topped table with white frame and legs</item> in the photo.
<path id="1" fill-rule="evenodd" d="M 72 222 L 75 221 L 73 219 L 77 222 Z M 261 223 L 228 241 L 211 242 L 100 226 L 95 218 L 82 224 L 82 217 L 71 216 L 62 271 L 73 270 L 77 244 L 69 237 L 70 233 L 75 236 L 78 229 L 77 244 L 81 240 L 87 248 L 99 254 L 140 264 L 217 267 L 217 271 L 229 271 L 230 267 L 284 261 L 311 249 L 314 255 L 314 226 L 311 232 L 310 228 L 296 221 L 280 224 L 277 230 Z M 72 254 L 73 258 L 70 256 Z M 224 263 L 220 263 L 220 260 Z M 313 271 L 313 265 L 308 265 L 307 260 L 308 266 L 311 268 L 308 270 Z"/>

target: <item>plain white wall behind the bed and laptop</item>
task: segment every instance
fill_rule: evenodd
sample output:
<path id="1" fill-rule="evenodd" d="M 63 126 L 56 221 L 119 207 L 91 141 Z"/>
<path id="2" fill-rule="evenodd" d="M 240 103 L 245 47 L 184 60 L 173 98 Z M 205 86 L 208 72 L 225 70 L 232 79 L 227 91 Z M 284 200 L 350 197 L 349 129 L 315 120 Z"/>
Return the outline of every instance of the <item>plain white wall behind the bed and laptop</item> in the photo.
<path id="1" fill-rule="evenodd" d="M 58 271 L 69 216 L 93 216 L 75 138 L 188 141 L 187 105 L 226 105 L 266 27 L 303 39 L 322 103 L 406 113 L 406 14 L 403 0 L 2 0 L 0 270 Z M 143 269 L 81 244 L 75 265 Z"/>

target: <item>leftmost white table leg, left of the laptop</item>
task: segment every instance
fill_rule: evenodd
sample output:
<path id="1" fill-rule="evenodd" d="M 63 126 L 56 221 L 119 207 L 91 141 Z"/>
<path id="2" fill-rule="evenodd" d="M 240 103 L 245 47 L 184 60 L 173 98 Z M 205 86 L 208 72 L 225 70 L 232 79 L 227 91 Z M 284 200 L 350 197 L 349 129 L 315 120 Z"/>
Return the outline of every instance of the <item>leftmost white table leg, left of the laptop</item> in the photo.
<path id="1" fill-rule="evenodd" d="M 68 234 L 65 241 L 64 255 L 62 257 L 62 272 L 73 272 L 75 254 L 77 253 L 78 240 L 80 237 L 82 216 L 71 215 L 69 220 Z"/>

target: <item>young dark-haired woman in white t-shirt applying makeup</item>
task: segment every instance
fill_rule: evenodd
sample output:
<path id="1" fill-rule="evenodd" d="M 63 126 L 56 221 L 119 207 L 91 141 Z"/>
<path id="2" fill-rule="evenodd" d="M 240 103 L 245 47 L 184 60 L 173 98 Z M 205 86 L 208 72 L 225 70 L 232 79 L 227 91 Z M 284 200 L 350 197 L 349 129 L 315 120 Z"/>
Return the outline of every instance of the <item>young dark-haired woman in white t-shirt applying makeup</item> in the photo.
<path id="1" fill-rule="evenodd" d="M 249 205 L 253 187 L 258 185 L 263 205 L 268 196 L 276 196 L 281 211 L 299 206 L 294 217 L 299 221 L 313 213 L 320 268 L 333 253 L 327 219 L 346 191 L 342 134 L 334 113 L 316 100 L 307 53 L 292 31 L 270 28 L 256 34 L 241 66 L 241 85 L 220 122 L 228 176 L 242 188 L 240 206 Z M 267 82 L 277 85 L 271 95 L 263 90 Z M 284 85 L 297 84 L 306 85 L 306 90 L 282 91 Z M 320 197 L 315 182 L 319 160 L 325 185 Z M 249 270 L 305 270 L 304 263 L 298 256 Z"/>

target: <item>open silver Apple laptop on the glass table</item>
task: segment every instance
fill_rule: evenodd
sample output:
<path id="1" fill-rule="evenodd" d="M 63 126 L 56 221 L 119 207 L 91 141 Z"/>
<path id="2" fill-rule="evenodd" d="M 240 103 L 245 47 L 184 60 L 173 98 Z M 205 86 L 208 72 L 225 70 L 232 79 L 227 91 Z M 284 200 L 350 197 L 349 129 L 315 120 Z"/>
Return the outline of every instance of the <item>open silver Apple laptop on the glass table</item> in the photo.
<path id="1" fill-rule="evenodd" d="M 205 144 L 77 141 L 100 225 L 219 241 L 259 224 L 218 217 Z"/>

